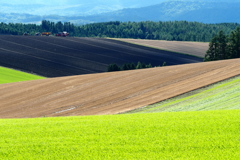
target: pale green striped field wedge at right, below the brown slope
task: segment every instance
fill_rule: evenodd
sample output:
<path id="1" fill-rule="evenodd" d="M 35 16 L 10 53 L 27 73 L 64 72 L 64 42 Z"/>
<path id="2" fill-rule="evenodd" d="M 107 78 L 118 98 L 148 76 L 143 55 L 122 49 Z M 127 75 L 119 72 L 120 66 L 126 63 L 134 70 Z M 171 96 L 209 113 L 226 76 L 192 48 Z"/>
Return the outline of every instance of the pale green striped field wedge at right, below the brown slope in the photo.
<path id="1" fill-rule="evenodd" d="M 240 109 L 240 76 L 130 113 Z"/>

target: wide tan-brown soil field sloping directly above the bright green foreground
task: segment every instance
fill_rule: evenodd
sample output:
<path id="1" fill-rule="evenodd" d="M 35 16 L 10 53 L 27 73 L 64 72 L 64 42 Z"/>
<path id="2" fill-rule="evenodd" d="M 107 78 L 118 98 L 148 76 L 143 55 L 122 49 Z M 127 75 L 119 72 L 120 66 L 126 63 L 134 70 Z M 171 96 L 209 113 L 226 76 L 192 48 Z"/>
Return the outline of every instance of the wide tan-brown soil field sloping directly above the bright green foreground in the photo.
<path id="1" fill-rule="evenodd" d="M 0 118 L 118 114 L 240 75 L 240 59 L 0 85 Z"/>

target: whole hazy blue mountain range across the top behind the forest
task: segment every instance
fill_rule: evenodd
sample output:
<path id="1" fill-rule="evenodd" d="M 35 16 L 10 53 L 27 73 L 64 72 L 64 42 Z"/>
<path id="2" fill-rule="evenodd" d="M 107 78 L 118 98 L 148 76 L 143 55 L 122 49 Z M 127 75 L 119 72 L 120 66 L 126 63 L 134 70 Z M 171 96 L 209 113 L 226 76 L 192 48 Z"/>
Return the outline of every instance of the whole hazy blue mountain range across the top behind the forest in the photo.
<path id="1" fill-rule="evenodd" d="M 50 21 L 68 21 L 75 24 L 86 24 L 106 21 L 186 20 L 203 23 L 240 23 L 239 0 L 155 0 L 152 3 L 143 1 L 145 3 L 142 3 L 142 5 L 138 4 L 135 6 L 133 5 L 134 3 L 130 4 L 129 1 L 125 0 L 121 4 L 113 2 L 111 5 L 104 5 L 104 3 L 99 3 L 99 5 L 74 3 L 65 6 L 3 4 L 0 7 L 0 21 L 39 23 L 41 20 L 46 19 Z M 130 8 L 126 8 L 127 6 Z"/>

